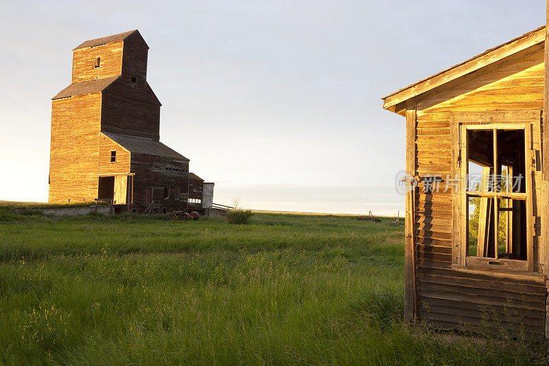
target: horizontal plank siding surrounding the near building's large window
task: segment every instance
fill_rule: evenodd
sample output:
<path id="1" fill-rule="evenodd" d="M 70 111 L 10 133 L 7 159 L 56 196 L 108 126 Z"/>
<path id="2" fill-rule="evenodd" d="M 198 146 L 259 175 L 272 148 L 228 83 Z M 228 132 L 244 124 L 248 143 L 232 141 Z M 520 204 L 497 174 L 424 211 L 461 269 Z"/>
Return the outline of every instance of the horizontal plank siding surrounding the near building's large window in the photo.
<path id="1" fill-rule="evenodd" d="M 543 45 L 530 47 L 444 90 L 420 95 L 415 131 L 417 174 L 450 174 L 450 112 L 541 110 L 543 60 Z M 527 332 L 543 336 L 544 279 L 453 269 L 452 192 L 424 194 L 421 187 L 419 192 L 415 202 L 419 318 L 443 328 L 482 325 L 495 331 L 500 326 L 517 331 L 523 323 Z"/>

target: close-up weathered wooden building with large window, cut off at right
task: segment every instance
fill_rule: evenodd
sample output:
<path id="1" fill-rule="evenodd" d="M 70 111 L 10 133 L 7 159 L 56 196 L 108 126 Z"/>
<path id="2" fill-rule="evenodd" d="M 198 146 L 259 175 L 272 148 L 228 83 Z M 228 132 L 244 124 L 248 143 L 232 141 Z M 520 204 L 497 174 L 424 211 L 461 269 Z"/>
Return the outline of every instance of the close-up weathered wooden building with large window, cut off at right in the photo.
<path id="1" fill-rule="evenodd" d="M 545 41 L 540 27 L 382 98 L 406 117 L 409 320 L 548 338 Z"/>

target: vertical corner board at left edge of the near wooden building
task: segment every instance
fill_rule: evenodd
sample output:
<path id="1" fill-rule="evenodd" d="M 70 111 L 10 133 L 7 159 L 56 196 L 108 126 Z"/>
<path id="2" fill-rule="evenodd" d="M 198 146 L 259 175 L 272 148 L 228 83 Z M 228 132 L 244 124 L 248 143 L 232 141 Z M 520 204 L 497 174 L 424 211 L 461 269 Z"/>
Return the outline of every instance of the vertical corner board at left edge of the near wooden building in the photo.
<path id="1" fill-rule="evenodd" d="M 406 102 L 406 174 L 416 175 L 416 104 L 414 100 Z M 410 184 L 407 182 L 406 184 Z M 404 240 L 404 317 L 412 321 L 417 317 L 417 284 L 415 266 L 415 187 L 406 192 L 406 220 Z M 408 187 L 410 188 L 410 187 Z"/>

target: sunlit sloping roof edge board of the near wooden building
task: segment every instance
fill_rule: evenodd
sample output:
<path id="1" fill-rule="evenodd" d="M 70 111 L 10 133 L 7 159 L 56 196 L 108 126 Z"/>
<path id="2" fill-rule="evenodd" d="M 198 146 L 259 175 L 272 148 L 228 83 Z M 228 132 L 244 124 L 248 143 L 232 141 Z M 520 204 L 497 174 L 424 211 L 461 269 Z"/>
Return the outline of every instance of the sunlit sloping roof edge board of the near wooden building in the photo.
<path id="1" fill-rule="evenodd" d="M 511 56 L 511 54 L 516 54 L 522 49 L 532 47 L 533 45 L 544 41 L 545 25 L 542 25 L 541 27 L 525 33 L 522 36 L 513 38 L 511 41 L 503 43 L 502 45 L 487 49 L 482 52 L 482 54 L 478 54 L 472 58 L 469 58 L 469 60 L 460 62 L 458 65 L 449 67 L 448 69 L 435 73 L 428 78 L 414 82 L 413 84 L 408 85 L 408 87 L 404 87 L 394 93 L 386 95 L 382 98 L 382 100 L 384 100 L 383 107 L 390 108 L 391 106 L 395 106 L 395 104 L 399 102 L 413 98 L 414 96 L 424 93 L 425 91 L 439 87 L 442 84 L 459 78 L 460 76 L 464 76 L 467 73 L 476 71 L 482 67 L 490 65 L 493 62 L 502 60 L 502 58 Z"/>

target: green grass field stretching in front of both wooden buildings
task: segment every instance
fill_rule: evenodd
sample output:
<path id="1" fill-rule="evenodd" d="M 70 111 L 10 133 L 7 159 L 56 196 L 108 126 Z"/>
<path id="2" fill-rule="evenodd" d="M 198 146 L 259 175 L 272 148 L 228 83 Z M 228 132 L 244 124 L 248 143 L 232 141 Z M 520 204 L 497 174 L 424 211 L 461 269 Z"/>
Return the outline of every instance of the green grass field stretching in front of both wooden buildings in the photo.
<path id="1" fill-rule="evenodd" d="M 524 340 L 408 328 L 390 219 L 13 208 L 0 203 L 0 364 L 545 363 Z"/>

